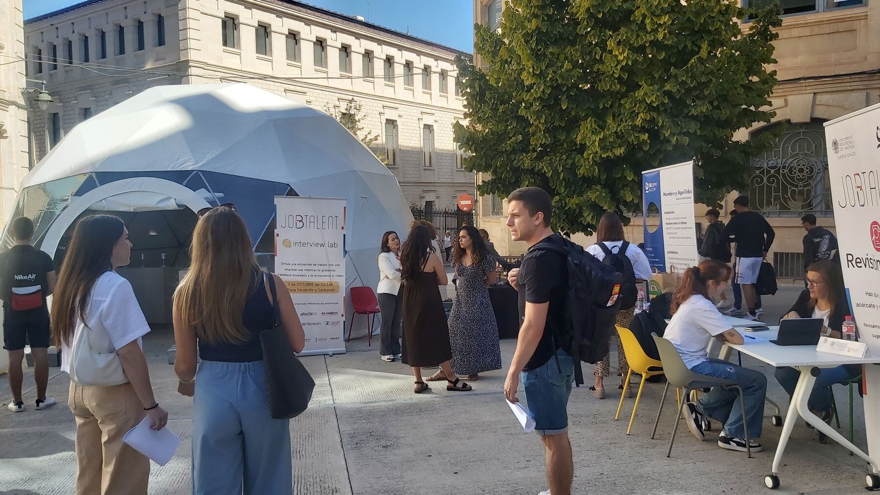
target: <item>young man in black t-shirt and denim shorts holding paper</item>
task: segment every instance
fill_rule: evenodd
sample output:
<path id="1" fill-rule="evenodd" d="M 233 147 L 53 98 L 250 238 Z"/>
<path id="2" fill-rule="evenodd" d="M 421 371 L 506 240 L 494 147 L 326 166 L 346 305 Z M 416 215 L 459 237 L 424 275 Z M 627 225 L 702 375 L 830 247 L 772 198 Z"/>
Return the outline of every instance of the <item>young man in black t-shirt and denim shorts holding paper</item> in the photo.
<path id="1" fill-rule="evenodd" d="M 546 477 L 553 495 L 571 493 L 574 465 L 568 441 L 568 396 L 575 374 L 574 359 L 555 346 L 554 331 L 564 327 L 568 286 L 566 258 L 542 250 L 546 244 L 562 244 L 550 229 L 552 201 L 539 187 L 523 187 L 508 197 L 510 238 L 529 245 L 523 263 L 508 274 L 519 292 L 521 327 L 517 350 L 510 362 L 504 395 L 518 402 L 520 379 L 525 402 L 535 419 L 535 433 L 546 450 Z M 558 357 L 554 359 L 554 355 Z"/>

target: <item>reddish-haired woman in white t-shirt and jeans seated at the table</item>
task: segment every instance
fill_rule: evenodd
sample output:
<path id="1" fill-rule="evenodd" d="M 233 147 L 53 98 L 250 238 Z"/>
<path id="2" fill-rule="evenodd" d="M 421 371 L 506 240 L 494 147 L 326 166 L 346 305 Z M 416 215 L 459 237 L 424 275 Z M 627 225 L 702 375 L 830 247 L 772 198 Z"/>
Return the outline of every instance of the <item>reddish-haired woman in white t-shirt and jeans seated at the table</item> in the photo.
<path id="1" fill-rule="evenodd" d="M 764 419 L 766 376 L 759 371 L 707 356 L 707 347 L 713 337 L 721 342 L 743 343 L 743 336 L 730 327 L 712 303 L 712 298 L 727 287 L 730 273 L 730 266 L 714 259 L 688 268 L 672 294 L 672 319 L 666 327 L 664 338 L 675 346 L 685 366 L 694 373 L 737 382 L 743 389 L 745 419 L 742 408 L 737 404 L 737 390 L 715 387 L 698 403 L 688 402 L 686 423 L 693 436 L 700 441 L 706 440 L 703 432 L 707 418 L 715 419 L 724 425 L 722 433 L 718 435 L 718 447 L 745 452 L 744 421 L 748 421 L 752 452 L 759 452 L 762 447 L 755 440 L 761 436 Z"/>

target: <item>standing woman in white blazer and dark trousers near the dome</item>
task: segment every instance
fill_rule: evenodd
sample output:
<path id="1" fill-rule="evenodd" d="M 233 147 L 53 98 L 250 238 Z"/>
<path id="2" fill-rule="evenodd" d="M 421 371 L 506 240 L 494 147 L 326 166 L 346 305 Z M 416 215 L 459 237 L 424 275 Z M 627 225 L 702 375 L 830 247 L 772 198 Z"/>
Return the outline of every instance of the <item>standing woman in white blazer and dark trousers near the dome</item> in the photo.
<path id="1" fill-rule="evenodd" d="M 400 359 L 400 323 L 403 320 L 403 291 L 400 290 L 400 237 L 389 230 L 382 236 L 379 253 L 379 285 L 376 288 L 382 314 L 382 360 Z"/>

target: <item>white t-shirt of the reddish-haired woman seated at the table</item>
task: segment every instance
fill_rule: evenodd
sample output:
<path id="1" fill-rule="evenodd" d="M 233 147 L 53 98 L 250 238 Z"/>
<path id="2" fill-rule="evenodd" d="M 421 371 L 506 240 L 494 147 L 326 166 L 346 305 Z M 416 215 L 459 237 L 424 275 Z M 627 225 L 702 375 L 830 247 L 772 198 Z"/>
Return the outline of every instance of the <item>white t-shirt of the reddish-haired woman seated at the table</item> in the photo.
<path id="1" fill-rule="evenodd" d="M 730 328 L 730 323 L 718 312 L 715 304 L 695 294 L 678 306 L 663 336 L 675 346 L 681 360 L 690 369 L 707 360 L 709 340 Z"/>

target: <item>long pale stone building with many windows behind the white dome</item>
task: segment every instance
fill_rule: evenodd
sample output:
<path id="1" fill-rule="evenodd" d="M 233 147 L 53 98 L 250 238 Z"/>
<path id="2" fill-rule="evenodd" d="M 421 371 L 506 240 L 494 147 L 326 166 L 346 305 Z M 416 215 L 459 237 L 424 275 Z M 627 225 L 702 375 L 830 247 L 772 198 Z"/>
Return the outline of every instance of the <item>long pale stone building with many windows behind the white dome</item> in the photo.
<path id="1" fill-rule="evenodd" d="M 35 160 L 152 86 L 246 82 L 331 113 L 354 100 L 410 203 L 473 194 L 452 135 L 464 117 L 454 61 L 470 54 L 294 0 L 92 0 L 29 19 L 25 34 L 28 70 L 56 100 L 30 107 Z"/>

